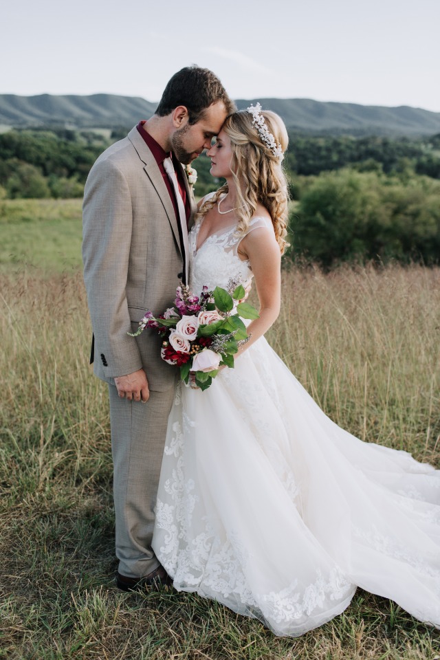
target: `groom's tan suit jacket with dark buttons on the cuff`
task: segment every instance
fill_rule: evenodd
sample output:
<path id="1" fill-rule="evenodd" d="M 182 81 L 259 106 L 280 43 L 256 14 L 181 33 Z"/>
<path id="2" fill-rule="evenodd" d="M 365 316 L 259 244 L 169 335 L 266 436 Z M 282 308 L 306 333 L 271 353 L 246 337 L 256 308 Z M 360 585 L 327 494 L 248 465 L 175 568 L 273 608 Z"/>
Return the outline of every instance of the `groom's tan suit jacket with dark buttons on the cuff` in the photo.
<path id="1" fill-rule="evenodd" d="M 184 176 L 195 211 L 192 190 Z M 83 261 L 95 336 L 94 372 L 107 382 L 143 367 L 163 391 L 175 369 L 160 358 L 160 338 L 135 331 L 146 309 L 162 313 L 184 269 L 173 203 L 146 142 L 134 127 L 91 168 L 83 205 Z M 187 259 L 189 255 L 187 255 Z"/>

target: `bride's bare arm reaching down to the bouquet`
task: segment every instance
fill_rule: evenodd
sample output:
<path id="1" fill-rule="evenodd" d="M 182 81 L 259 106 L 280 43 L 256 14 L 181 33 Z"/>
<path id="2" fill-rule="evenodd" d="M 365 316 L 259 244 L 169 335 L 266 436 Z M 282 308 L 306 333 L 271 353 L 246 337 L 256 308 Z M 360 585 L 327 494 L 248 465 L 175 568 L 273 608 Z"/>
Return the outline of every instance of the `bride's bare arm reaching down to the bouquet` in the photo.
<path id="1" fill-rule="evenodd" d="M 239 245 L 239 253 L 249 259 L 256 292 L 259 296 L 260 318 L 248 325 L 250 340 L 241 344 L 236 357 L 248 349 L 278 318 L 281 303 L 281 252 L 270 228 L 259 227 L 247 234 Z"/>

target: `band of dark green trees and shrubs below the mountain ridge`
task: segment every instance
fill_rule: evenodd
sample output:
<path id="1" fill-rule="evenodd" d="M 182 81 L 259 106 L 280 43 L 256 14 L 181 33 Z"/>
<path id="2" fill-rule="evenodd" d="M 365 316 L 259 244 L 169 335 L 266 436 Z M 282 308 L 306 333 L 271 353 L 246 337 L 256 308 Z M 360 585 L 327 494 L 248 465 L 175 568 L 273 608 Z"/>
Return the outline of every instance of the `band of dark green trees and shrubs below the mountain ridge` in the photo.
<path id="1" fill-rule="evenodd" d="M 98 155 L 126 131 L 0 134 L 0 197 L 82 197 Z M 290 259 L 440 261 L 440 134 L 419 140 L 289 135 Z M 195 162 L 197 196 L 215 190 L 210 159 Z"/>

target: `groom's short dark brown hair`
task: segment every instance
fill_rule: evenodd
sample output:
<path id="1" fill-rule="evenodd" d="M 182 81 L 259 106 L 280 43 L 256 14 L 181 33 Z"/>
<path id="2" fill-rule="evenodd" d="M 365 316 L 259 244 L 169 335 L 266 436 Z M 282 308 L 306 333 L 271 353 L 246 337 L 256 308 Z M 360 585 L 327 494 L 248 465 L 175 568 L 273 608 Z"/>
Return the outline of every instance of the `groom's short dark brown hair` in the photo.
<path id="1" fill-rule="evenodd" d="M 189 123 L 197 124 L 206 109 L 218 101 L 223 101 L 228 115 L 234 111 L 234 102 L 230 100 L 219 78 L 209 69 L 192 65 L 180 69 L 170 78 L 155 114 L 165 117 L 177 106 L 184 105 L 188 110 Z"/>

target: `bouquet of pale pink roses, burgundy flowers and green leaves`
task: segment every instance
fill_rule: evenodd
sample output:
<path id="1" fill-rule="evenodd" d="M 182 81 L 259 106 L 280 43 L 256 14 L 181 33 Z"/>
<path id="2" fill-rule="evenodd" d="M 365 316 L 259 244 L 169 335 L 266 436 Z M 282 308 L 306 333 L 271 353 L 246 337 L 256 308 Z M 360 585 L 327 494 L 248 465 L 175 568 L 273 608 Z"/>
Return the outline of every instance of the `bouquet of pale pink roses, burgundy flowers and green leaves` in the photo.
<path id="1" fill-rule="evenodd" d="M 193 296 L 187 286 L 177 287 L 173 307 L 161 316 L 146 311 L 135 333 L 155 329 L 162 336 L 162 360 L 180 368 L 181 379 L 188 384 L 190 371 L 195 383 L 206 390 L 223 365 L 234 366 L 234 353 L 239 343 L 249 340 L 243 318 L 258 318 L 255 307 L 240 303 L 245 296 L 242 285 L 230 281 L 227 289 L 203 287 Z"/>

